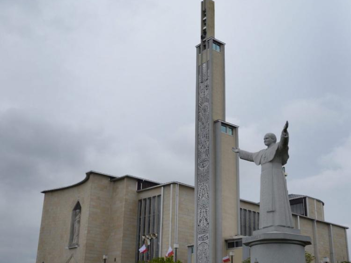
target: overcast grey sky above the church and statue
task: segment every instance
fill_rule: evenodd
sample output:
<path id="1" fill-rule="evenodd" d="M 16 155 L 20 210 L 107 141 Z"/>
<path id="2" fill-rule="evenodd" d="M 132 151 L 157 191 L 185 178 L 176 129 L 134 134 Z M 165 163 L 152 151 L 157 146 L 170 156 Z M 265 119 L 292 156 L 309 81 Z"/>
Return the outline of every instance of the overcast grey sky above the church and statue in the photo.
<path id="1" fill-rule="evenodd" d="M 215 4 L 240 148 L 289 120 L 289 193 L 350 227 L 351 1 Z M 88 170 L 194 185 L 199 40 L 200 0 L 0 0 L 1 263 L 35 262 L 40 191 Z M 240 162 L 241 198 L 259 174 Z"/>

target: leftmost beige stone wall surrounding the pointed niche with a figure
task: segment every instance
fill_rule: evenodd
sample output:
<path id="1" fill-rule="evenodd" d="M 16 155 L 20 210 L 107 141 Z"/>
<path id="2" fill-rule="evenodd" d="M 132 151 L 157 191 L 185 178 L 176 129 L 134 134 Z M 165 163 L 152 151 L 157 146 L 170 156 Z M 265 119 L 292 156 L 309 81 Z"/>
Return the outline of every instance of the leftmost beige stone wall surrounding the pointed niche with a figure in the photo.
<path id="1" fill-rule="evenodd" d="M 66 262 L 73 254 L 74 260 L 84 262 L 88 232 L 91 181 L 74 188 L 47 192 L 44 196 L 41 217 L 37 263 Z M 79 246 L 68 249 L 72 210 L 79 201 L 81 220 Z"/>

